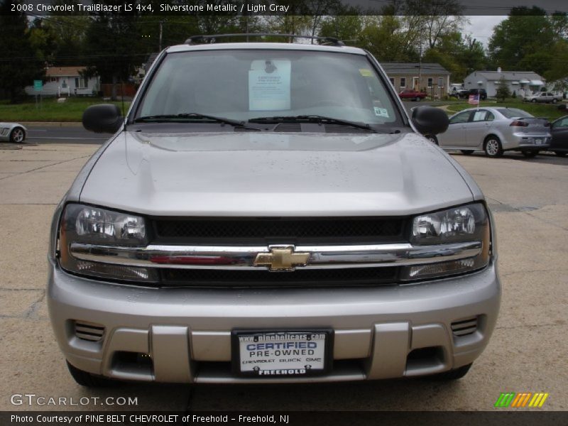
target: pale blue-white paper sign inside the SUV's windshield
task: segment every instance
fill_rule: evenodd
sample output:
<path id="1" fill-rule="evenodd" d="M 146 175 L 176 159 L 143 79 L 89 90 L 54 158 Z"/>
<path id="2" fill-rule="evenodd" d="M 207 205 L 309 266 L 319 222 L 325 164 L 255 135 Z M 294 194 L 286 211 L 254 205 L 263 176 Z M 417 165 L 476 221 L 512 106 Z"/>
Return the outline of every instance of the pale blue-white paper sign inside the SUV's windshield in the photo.
<path id="1" fill-rule="evenodd" d="M 290 109 L 290 61 L 254 60 L 249 71 L 249 109 Z"/>

